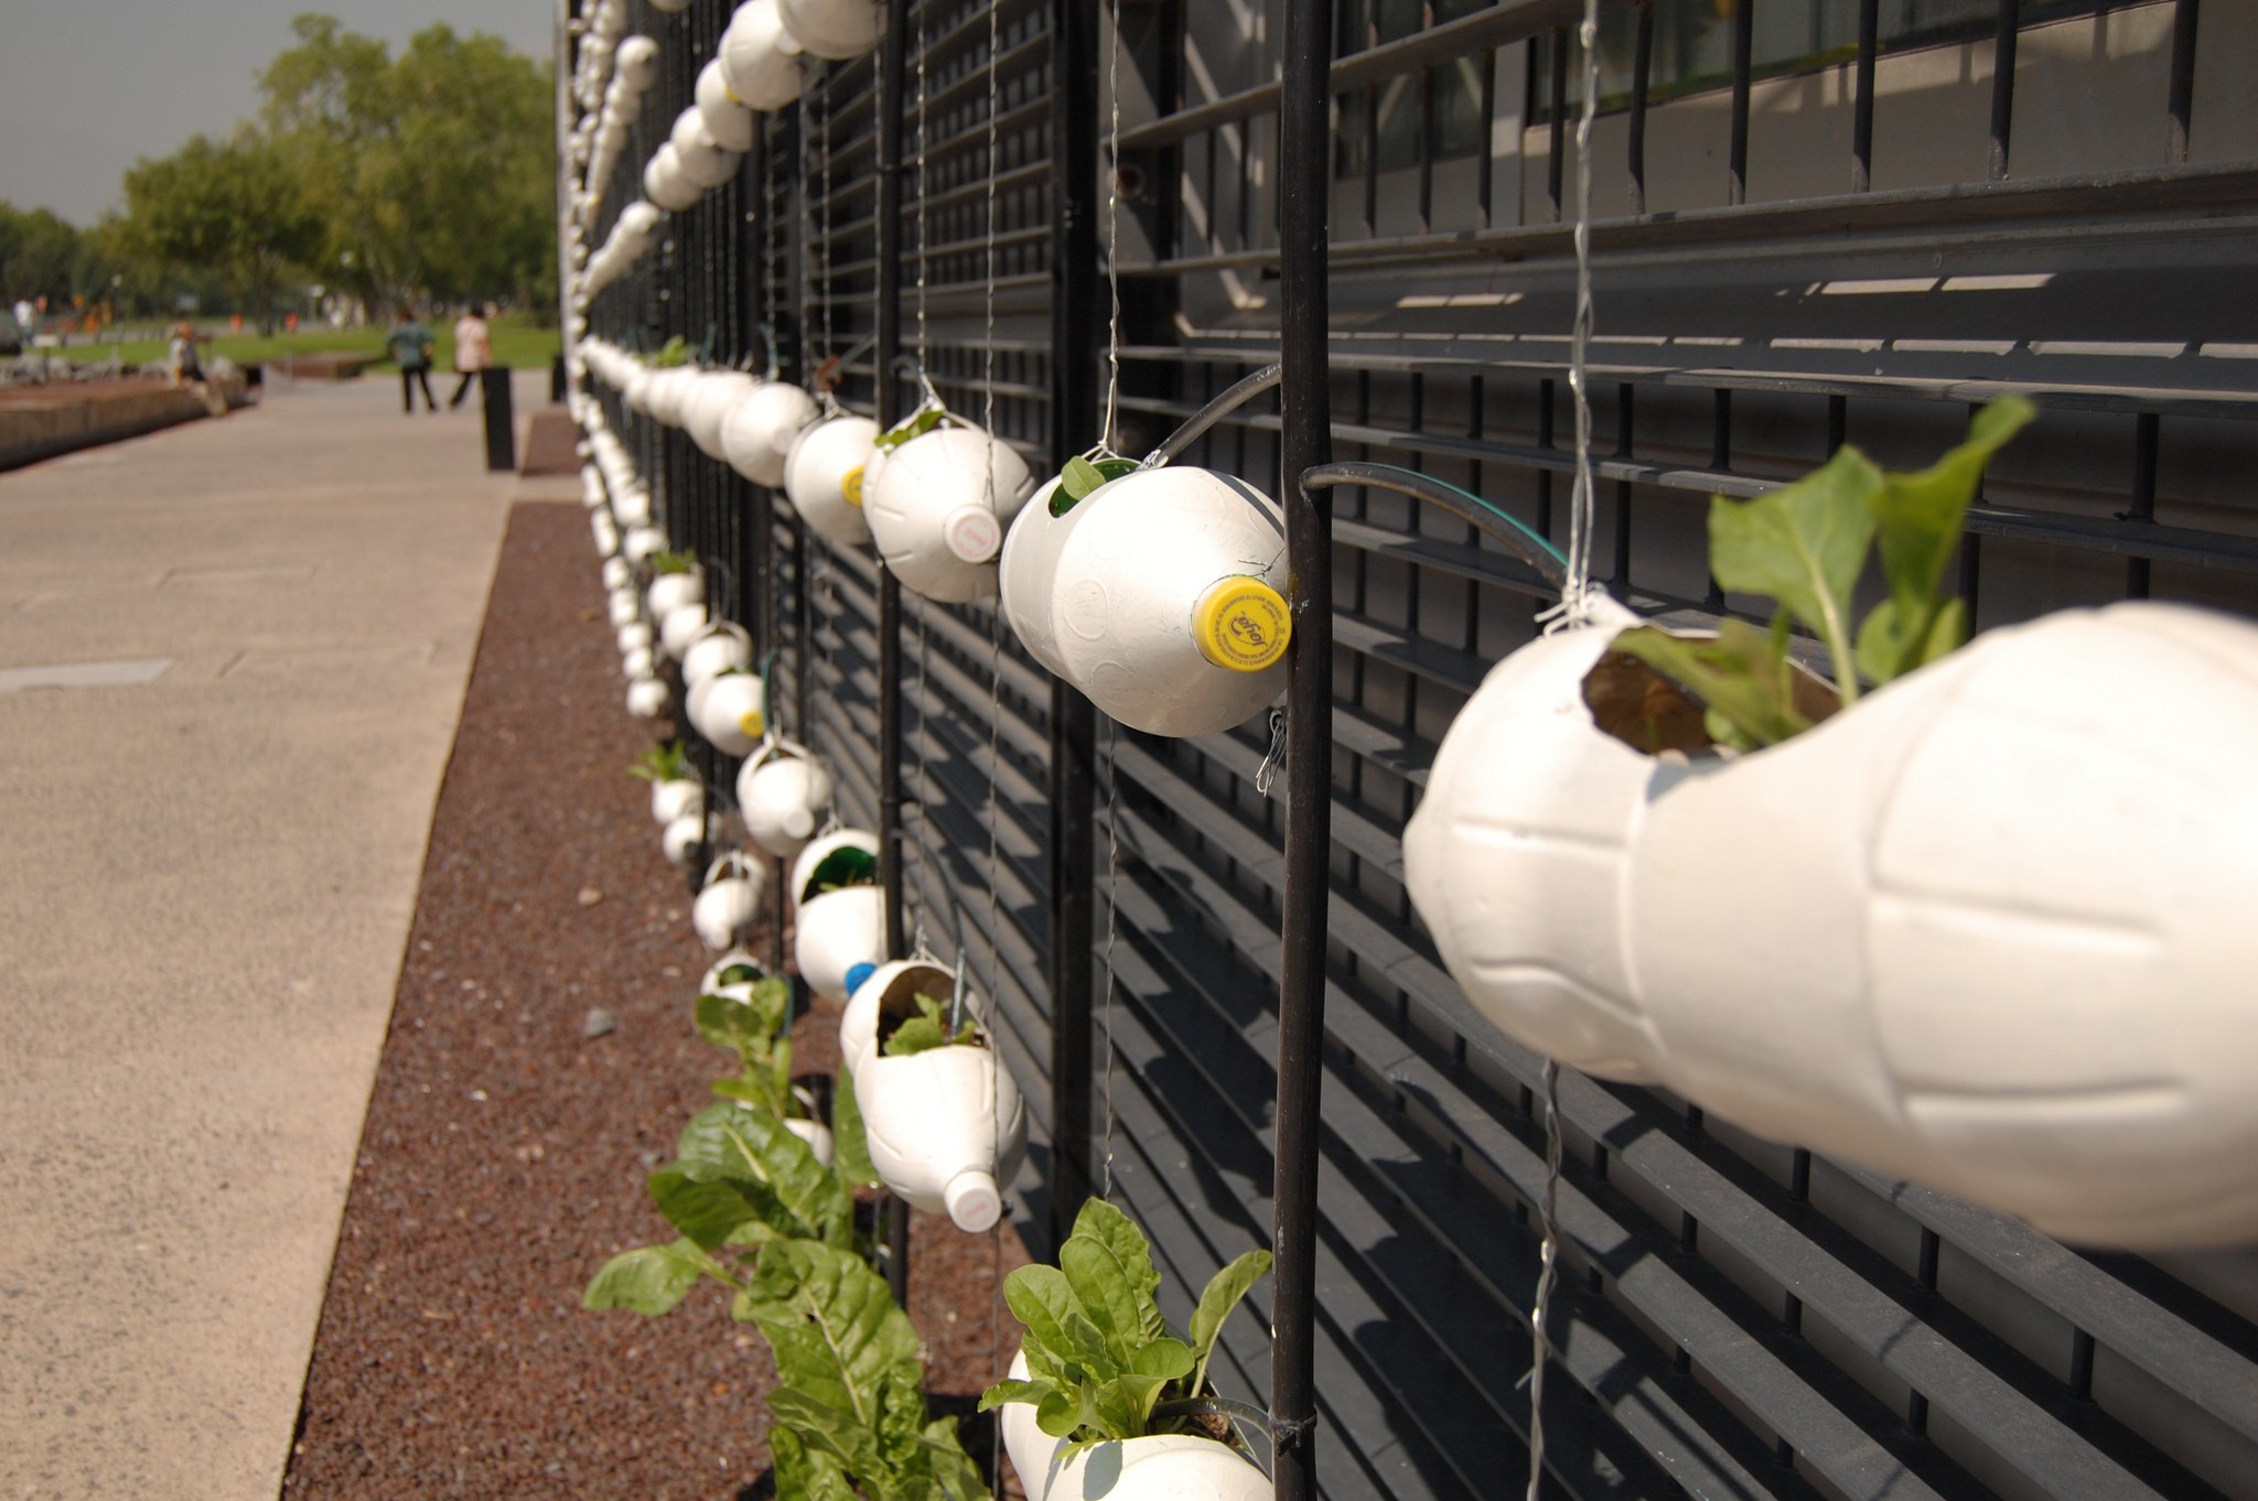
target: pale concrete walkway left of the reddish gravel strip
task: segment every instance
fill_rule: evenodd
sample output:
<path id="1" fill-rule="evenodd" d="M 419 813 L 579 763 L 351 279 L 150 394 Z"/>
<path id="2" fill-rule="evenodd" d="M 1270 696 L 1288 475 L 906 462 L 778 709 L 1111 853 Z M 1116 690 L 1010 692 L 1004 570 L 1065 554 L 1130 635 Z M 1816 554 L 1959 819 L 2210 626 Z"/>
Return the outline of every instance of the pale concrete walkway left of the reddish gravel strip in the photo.
<path id="1" fill-rule="evenodd" d="M 0 1501 L 275 1496 L 515 492 L 393 381 L 0 476 Z"/>

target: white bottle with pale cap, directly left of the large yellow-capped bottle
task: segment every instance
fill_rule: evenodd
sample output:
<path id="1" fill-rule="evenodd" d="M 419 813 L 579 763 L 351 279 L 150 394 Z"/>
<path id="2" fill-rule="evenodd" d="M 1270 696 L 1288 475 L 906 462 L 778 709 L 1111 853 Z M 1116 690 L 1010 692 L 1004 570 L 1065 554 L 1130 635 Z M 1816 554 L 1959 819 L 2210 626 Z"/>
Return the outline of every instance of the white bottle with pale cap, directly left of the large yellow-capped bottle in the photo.
<path id="1" fill-rule="evenodd" d="M 944 427 L 887 454 L 863 485 L 863 515 L 903 589 L 962 605 L 996 594 L 1003 528 L 1030 490 L 1034 479 L 1009 442 Z"/>

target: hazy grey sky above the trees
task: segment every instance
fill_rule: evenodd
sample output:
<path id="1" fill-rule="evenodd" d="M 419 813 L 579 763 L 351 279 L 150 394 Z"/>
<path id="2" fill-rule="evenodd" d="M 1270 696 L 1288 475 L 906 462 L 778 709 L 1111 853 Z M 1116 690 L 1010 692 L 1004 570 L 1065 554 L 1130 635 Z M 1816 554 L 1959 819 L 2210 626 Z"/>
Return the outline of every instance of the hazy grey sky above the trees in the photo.
<path id="1" fill-rule="evenodd" d="M 0 199 L 93 223 L 120 205 L 138 156 L 257 113 L 257 72 L 303 11 L 395 52 L 436 20 L 533 56 L 553 50 L 555 0 L 5 0 Z"/>

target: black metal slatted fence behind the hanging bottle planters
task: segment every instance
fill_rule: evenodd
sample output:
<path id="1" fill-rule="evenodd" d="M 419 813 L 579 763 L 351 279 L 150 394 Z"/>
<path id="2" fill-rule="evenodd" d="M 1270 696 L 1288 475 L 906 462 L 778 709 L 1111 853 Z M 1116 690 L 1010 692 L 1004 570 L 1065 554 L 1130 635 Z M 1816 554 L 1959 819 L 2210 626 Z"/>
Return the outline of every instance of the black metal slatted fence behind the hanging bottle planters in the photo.
<path id="1" fill-rule="evenodd" d="M 725 361 L 772 334 L 786 379 L 844 359 L 844 400 L 881 418 L 914 400 L 887 375 L 901 350 L 1050 472 L 1100 429 L 1118 187 L 1120 447 L 1143 451 L 1280 357 L 1280 273 L 1310 251 L 1278 232 L 1280 43 L 1316 18 L 1339 59 L 1314 350 L 1332 449 L 1565 528 L 1581 5 L 1341 0 L 1330 25 L 1310 0 L 896 7 L 896 47 L 763 117 L 741 178 L 673 217 L 596 332 Z M 1617 598 L 1723 609 L 1703 497 L 1843 440 L 1917 463 L 1971 404 L 2028 390 L 2039 424 L 1960 558 L 1983 625 L 2123 596 L 2258 612 L 2258 14 L 1608 11 L 1592 388 Z M 623 172 L 725 23 L 720 0 L 634 7 L 668 72 Z M 607 217 L 628 199 L 623 176 Z M 1271 1241 L 1289 953 L 1269 727 L 1100 727 L 994 609 L 887 598 L 781 494 L 614 424 L 677 544 L 732 564 L 723 603 L 779 648 L 786 729 L 840 770 L 844 813 L 899 819 L 910 923 L 946 953 L 962 907 L 1030 1092 L 1036 1253 L 1084 1183 L 1147 1226 L 1179 1302 Z M 1264 400 L 1192 458 L 1278 492 L 1280 429 Z M 1332 704 L 1305 720 L 1332 772 L 1312 1454 L 1328 1496 L 1499 1496 L 1526 1472 L 1542 1061 L 1436 964 L 1398 837 L 1452 716 L 1554 591 L 1398 497 L 1341 490 L 1332 517 Z M 2089 1255 L 1660 1092 L 1567 1077 L 1560 1106 L 1547 1494 L 2258 1496 L 2251 1253 Z M 1267 1332 L 1242 1318 L 1224 1350 L 1228 1395 L 1262 1399 Z"/>

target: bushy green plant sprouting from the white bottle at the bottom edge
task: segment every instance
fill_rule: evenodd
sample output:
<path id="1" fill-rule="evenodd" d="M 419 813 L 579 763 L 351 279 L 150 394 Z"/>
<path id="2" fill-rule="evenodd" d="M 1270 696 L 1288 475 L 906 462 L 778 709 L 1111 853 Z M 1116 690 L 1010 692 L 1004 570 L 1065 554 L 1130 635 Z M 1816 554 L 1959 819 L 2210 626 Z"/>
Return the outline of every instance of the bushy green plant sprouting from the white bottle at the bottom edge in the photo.
<path id="1" fill-rule="evenodd" d="M 1224 1266 L 1199 1293 L 1190 1334 L 1176 1334 L 1154 1300 L 1161 1273 L 1145 1232 L 1104 1199 L 1091 1199 L 1057 1266 L 1021 1266 L 1005 1278 L 1005 1302 L 1027 1325 L 1027 1377 L 987 1388 L 980 1411 L 1034 1404 L 1036 1427 L 1068 1440 L 1066 1458 L 1152 1433 L 1215 1438 L 1210 1417 L 1222 1408 L 1208 1393 L 1208 1361 L 1231 1309 L 1269 1266 L 1269 1250 Z"/>

